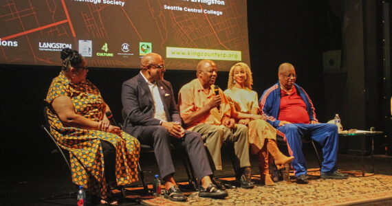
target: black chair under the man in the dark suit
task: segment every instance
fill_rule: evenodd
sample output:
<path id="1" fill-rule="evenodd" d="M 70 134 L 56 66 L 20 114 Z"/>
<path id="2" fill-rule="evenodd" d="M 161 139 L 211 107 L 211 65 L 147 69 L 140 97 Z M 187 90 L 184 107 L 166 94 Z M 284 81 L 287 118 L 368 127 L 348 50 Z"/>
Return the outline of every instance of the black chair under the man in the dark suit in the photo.
<path id="1" fill-rule="evenodd" d="M 121 111 L 121 115 L 122 115 L 122 119 L 124 121 L 125 117 L 127 117 L 127 113 L 125 113 L 124 108 Z M 146 145 L 146 144 L 140 144 L 140 160 L 142 159 L 141 156 L 142 156 L 143 153 L 147 154 L 147 153 L 153 153 L 153 152 L 154 152 L 153 147 L 151 147 L 149 145 Z M 193 188 L 196 191 L 198 191 L 199 190 L 199 181 L 200 180 L 195 177 L 195 174 L 193 172 L 194 170 L 192 168 L 192 164 L 190 163 L 190 159 L 189 159 L 188 153 L 185 151 L 184 148 L 180 148 L 180 147 L 174 146 L 173 144 L 171 144 L 171 152 L 172 153 L 173 152 L 178 152 L 179 154 L 181 154 L 180 156 L 181 156 L 182 162 L 184 164 L 184 168 L 186 170 L 186 174 L 188 176 L 188 183 L 190 185 L 192 185 Z M 184 155 L 184 154 L 186 154 L 186 155 Z M 145 194 L 149 194 L 148 183 L 146 183 L 146 181 L 145 181 L 144 173 L 143 173 L 142 167 L 140 166 L 140 163 L 138 163 L 138 170 L 139 170 L 139 174 L 140 174 L 140 179 L 141 179 L 142 184 L 143 184 L 144 193 Z"/>

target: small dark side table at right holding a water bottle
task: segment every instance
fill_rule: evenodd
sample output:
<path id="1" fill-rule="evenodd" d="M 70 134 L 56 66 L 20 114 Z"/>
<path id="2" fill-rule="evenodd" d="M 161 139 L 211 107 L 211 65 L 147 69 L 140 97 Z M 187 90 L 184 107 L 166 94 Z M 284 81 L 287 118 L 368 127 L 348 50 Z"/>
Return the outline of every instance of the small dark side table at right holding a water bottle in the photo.
<path id="1" fill-rule="evenodd" d="M 374 161 L 373 161 L 373 153 L 374 153 L 374 137 L 380 136 L 384 134 L 382 131 L 363 131 L 360 130 L 354 133 L 339 133 L 339 137 L 358 137 L 360 138 L 360 159 L 362 161 L 362 176 L 364 176 L 364 147 L 365 140 L 367 137 L 371 137 L 371 173 L 374 173 Z"/>

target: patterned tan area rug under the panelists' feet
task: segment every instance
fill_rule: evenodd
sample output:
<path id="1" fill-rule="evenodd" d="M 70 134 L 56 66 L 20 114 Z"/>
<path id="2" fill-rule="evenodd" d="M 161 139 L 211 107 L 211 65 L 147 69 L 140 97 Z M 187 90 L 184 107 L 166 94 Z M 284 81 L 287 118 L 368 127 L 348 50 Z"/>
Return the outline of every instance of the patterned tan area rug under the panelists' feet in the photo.
<path id="1" fill-rule="evenodd" d="M 228 190 L 226 199 L 199 198 L 192 192 L 185 203 L 168 201 L 163 196 L 145 199 L 143 205 L 350 205 L 392 198 L 392 176 L 373 175 L 345 180 L 318 179 L 317 172 L 307 185 L 298 185 L 294 179 L 280 181 L 275 186 L 257 185 L 252 190 Z M 309 174 L 312 174 L 309 172 Z"/>

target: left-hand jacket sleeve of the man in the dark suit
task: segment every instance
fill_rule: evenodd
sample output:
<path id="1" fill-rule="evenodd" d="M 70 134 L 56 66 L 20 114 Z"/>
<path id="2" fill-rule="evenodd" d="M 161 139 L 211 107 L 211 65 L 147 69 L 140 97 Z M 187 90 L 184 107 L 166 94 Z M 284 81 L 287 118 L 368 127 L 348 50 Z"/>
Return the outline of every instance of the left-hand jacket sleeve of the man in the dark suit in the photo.
<path id="1" fill-rule="evenodd" d="M 131 122 L 135 125 L 142 126 L 152 126 L 159 125 L 160 119 L 155 119 L 151 117 L 151 115 L 146 115 L 140 110 L 138 100 L 138 88 L 133 87 L 129 82 L 124 82 L 122 84 L 122 107 L 124 108 L 125 113 L 127 113 L 127 117 L 131 120 Z M 150 94 L 151 95 L 151 94 Z"/>

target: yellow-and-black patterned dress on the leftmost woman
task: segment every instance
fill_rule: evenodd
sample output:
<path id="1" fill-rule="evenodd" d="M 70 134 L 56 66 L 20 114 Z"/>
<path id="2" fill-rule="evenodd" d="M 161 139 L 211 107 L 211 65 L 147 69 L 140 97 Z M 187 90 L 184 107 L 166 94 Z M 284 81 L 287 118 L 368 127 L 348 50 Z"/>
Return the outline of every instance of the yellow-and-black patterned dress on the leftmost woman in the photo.
<path id="1" fill-rule="evenodd" d="M 63 74 L 53 79 L 45 101 L 51 104 L 59 96 L 71 98 L 75 113 L 93 121 L 100 121 L 104 116 L 105 104 L 98 88 L 89 82 L 73 84 Z M 107 198 L 101 140 L 109 141 L 116 148 L 116 181 L 118 185 L 127 185 L 138 181 L 137 165 L 140 156 L 140 143 L 127 133 L 122 137 L 100 130 L 87 130 L 68 127 L 62 124 L 52 109 L 47 109 L 50 132 L 57 143 L 69 151 L 72 168 L 72 181 L 84 185 L 90 192 Z"/>

